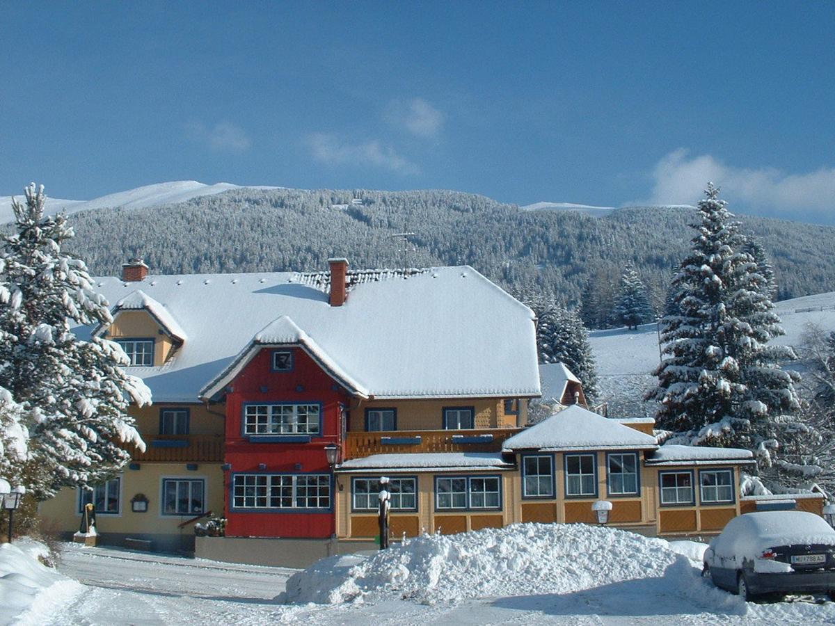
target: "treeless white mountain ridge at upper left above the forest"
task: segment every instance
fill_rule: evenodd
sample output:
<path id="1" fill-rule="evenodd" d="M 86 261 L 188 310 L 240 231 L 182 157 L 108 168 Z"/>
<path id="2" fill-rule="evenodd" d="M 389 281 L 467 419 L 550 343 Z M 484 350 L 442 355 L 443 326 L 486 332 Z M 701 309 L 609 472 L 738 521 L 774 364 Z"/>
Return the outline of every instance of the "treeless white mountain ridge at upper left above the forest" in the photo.
<path id="1" fill-rule="evenodd" d="M 47 213 L 54 215 L 59 211 L 68 214 L 94 209 L 144 209 L 162 204 L 177 204 L 204 195 L 220 194 L 230 189 L 282 189 L 266 185 L 244 186 L 231 183 L 205 184 L 196 180 L 174 180 L 169 183 L 146 184 L 136 189 L 119 191 L 115 194 L 103 195 L 92 200 L 47 199 Z M 47 189 L 48 191 L 48 189 Z M 18 202 L 23 201 L 23 194 L 15 195 Z M 0 196 L 0 224 L 14 219 L 12 213 L 12 196 Z"/>

